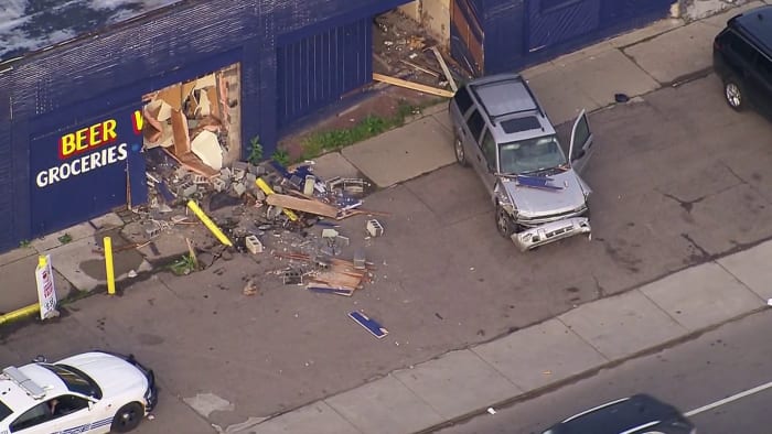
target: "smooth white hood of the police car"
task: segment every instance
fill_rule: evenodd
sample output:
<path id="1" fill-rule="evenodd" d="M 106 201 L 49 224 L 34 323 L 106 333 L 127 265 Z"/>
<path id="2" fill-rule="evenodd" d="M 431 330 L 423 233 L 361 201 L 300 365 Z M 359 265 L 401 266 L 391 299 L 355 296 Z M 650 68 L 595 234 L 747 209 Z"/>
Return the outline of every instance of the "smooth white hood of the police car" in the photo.
<path id="1" fill-rule="evenodd" d="M 141 397 L 148 388 L 142 371 L 128 361 L 106 352 L 84 352 L 56 362 L 68 365 L 88 375 L 99 384 L 103 395 L 138 392 Z"/>

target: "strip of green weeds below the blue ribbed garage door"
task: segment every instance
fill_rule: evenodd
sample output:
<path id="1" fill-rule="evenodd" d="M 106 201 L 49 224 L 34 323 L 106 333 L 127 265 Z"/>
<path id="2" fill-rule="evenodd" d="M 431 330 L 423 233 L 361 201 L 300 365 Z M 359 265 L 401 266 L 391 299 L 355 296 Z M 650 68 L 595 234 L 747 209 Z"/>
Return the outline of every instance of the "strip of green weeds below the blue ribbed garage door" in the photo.
<path id="1" fill-rule="evenodd" d="M 405 101 L 399 101 L 396 113 L 390 117 L 368 116 L 351 128 L 314 132 L 302 140 L 302 152 L 299 160 L 310 160 L 326 152 L 337 151 L 341 148 L 378 135 L 393 128 L 401 127 L 409 116 L 419 115 L 423 107 L 433 104 L 436 101 L 412 106 Z"/>

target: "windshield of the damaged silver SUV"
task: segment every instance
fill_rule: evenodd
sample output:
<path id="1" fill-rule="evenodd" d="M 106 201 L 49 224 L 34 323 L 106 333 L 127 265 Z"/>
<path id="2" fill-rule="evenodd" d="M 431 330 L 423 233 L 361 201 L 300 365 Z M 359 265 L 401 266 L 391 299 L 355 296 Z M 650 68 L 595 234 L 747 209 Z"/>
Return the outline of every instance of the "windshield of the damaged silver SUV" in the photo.
<path id="1" fill-rule="evenodd" d="M 558 138 L 546 135 L 500 145 L 501 172 L 525 174 L 566 164 Z"/>

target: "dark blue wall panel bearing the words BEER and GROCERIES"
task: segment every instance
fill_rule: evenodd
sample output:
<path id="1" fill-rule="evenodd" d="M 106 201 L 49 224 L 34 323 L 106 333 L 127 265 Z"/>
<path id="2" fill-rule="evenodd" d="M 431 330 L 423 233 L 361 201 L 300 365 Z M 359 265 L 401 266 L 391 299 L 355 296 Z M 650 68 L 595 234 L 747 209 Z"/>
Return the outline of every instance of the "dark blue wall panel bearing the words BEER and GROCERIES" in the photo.
<path id="1" fill-rule="evenodd" d="M 30 140 L 33 237 L 147 202 L 139 113 L 125 108 Z"/>

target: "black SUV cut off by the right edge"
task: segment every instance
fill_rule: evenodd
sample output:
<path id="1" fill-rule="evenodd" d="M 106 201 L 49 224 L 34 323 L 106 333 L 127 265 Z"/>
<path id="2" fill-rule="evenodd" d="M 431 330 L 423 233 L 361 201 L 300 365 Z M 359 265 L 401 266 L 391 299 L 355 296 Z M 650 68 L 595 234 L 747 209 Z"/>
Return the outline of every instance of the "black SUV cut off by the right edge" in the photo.
<path id="1" fill-rule="evenodd" d="M 772 113 L 772 6 L 732 17 L 714 41 L 714 69 L 735 110 L 752 102 Z"/>

